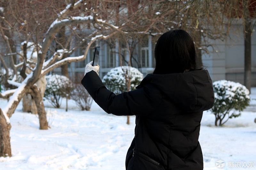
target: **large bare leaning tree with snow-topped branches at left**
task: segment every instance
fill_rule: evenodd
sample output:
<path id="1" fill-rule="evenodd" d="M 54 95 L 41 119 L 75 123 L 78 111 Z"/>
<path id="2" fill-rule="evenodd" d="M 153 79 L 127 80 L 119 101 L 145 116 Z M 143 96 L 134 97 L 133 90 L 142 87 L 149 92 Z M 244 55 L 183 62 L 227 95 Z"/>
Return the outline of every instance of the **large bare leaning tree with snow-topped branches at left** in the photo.
<path id="1" fill-rule="evenodd" d="M 10 15 L 6 15 L 8 15 L 8 20 L 15 22 L 6 20 L 6 15 L 4 18 L 0 17 L 2 23 L 5 23 L 4 25 L 1 25 L 0 29 L 13 30 L 19 35 L 20 39 L 25 39 L 27 42 L 34 42 L 36 45 L 37 62 L 35 67 L 31 68 L 27 64 L 29 61 L 25 56 L 26 53 L 21 55 L 16 52 L 15 55 L 20 55 L 23 58 L 23 62 L 17 65 L 12 63 L 12 68 L 17 69 L 22 66 L 20 72 L 24 80 L 22 83 L 18 84 L 15 80 L 8 81 L 5 76 L 4 82 L 6 82 L 6 87 L 13 85 L 16 86 L 16 88 L 12 90 L 9 89 L 5 91 L 4 94 L 0 93 L 0 97 L 2 98 L 6 98 L 7 96 L 10 97 L 7 105 L 0 109 L 0 130 L 2 133 L 2 138 L 0 138 L 0 146 L 2 146 L 0 148 L 0 156 L 11 156 L 9 136 L 11 128 L 10 117 L 25 94 L 31 94 L 32 98 L 35 100 L 40 129 L 48 129 L 43 98 L 40 89 L 37 88 L 35 83 L 55 68 L 71 62 L 83 61 L 86 58 L 90 46 L 95 41 L 107 40 L 111 36 L 117 34 L 150 34 L 149 30 L 154 30 L 153 26 L 158 22 L 159 17 L 150 19 L 150 22 L 143 26 L 140 26 L 139 24 L 139 22 L 145 18 L 149 20 L 149 16 L 151 15 L 148 15 L 150 12 L 148 12 L 145 7 L 150 5 L 150 3 L 150 1 L 142 1 L 140 7 L 133 8 L 133 6 L 129 6 L 131 5 L 130 1 L 122 1 L 121 3 L 103 0 L 79 0 L 77 2 L 72 1 L 70 4 L 65 4 L 66 7 L 63 9 L 56 9 L 55 7 L 57 5 L 54 4 L 54 1 L 10 1 L 7 8 L 10 9 L 11 13 Z M 49 10 L 50 12 L 45 10 L 45 6 L 48 9 L 51 9 Z M 118 7 L 118 10 L 116 7 Z M 125 9 L 127 8 L 132 8 L 133 10 L 130 15 L 125 13 Z M 40 16 L 43 15 L 50 17 L 41 17 L 43 19 L 40 19 Z M 56 34 L 60 32 L 62 27 L 66 27 L 69 30 L 69 39 L 64 46 L 62 44 L 60 45 L 62 49 L 54 51 L 52 50 L 54 49 L 52 48 L 52 41 L 58 41 L 58 39 L 56 39 Z M 44 28 L 46 28 L 47 31 L 44 32 Z M 81 36 L 81 33 L 84 30 L 87 30 L 87 33 L 84 33 Z M 5 37 L 5 35 L 2 34 L 2 37 Z M 76 39 L 76 41 L 74 39 Z M 72 57 L 71 55 L 84 42 L 87 43 L 84 55 Z M 52 56 L 45 61 L 45 56 L 49 53 L 52 53 Z M 10 54 L 10 50 L 4 54 L 4 56 L 10 55 L 14 55 L 12 53 Z M 5 64 L 2 55 L 0 55 L 0 59 L 6 72 L 8 72 L 8 67 Z M 23 74 L 27 68 L 31 70 L 31 72 L 28 75 Z"/>

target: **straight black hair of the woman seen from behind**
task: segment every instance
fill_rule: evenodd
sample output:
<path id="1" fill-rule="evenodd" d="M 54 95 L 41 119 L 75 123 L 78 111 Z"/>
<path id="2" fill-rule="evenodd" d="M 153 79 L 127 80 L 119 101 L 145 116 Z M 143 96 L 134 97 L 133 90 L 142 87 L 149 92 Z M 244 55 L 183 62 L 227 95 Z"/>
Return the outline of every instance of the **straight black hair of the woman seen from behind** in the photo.
<path id="1" fill-rule="evenodd" d="M 172 30 L 160 36 L 155 47 L 153 74 L 183 73 L 196 69 L 194 41 L 184 30 Z"/>

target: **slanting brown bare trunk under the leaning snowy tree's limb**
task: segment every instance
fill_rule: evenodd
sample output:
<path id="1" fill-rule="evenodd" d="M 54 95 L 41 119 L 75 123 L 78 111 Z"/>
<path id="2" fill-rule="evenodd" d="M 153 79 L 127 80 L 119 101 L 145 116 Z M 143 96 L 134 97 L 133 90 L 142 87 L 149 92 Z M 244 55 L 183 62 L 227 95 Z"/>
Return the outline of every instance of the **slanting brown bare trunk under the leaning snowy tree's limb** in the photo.
<path id="1" fill-rule="evenodd" d="M 32 92 L 31 96 L 35 100 L 36 107 L 37 107 L 37 112 L 38 112 L 38 117 L 39 117 L 39 124 L 40 124 L 40 129 L 47 130 L 48 129 L 48 122 L 46 118 L 46 112 L 44 110 L 44 102 L 42 95 L 40 91 L 37 89 L 37 87 L 33 86 L 31 88 Z"/>

